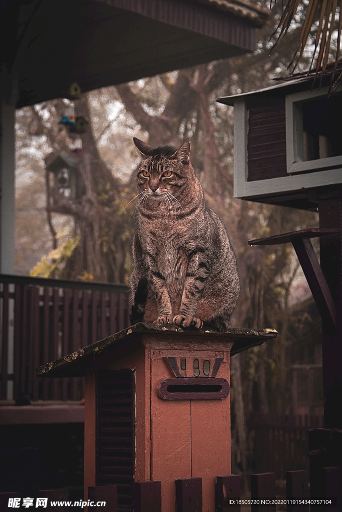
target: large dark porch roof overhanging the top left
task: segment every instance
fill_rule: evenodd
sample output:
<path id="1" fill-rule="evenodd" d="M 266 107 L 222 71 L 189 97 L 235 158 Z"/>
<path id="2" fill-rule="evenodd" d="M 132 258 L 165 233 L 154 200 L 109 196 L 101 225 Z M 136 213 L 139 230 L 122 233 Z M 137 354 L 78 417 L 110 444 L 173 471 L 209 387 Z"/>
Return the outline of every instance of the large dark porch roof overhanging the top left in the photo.
<path id="1" fill-rule="evenodd" d="M 5 97 L 22 107 L 75 81 L 85 92 L 250 52 L 268 13 L 248 0 L 5 0 Z"/>

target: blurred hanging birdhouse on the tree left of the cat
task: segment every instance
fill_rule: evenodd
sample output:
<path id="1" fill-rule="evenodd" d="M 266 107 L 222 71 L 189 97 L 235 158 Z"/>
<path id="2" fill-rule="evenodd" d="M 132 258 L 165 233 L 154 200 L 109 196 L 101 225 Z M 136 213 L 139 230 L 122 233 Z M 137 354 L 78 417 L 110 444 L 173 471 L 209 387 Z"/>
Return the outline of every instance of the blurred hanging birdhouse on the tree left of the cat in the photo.
<path id="1" fill-rule="evenodd" d="M 83 182 L 77 173 L 76 163 L 71 158 L 63 153 L 52 153 L 45 159 L 45 163 L 49 173 L 49 187 L 57 188 L 59 194 L 70 199 L 82 197 Z"/>

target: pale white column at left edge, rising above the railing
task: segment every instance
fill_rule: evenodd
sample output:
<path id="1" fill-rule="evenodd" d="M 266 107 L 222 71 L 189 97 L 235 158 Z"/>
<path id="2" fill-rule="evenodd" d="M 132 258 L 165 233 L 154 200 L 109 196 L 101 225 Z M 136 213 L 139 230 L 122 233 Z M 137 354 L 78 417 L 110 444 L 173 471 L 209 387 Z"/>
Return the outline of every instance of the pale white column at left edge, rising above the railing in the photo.
<path id="1" fill-rule="evenodd" d="M 4 97 L 0 102 L 0 273 L 13 274 L 15 102 Z"/>

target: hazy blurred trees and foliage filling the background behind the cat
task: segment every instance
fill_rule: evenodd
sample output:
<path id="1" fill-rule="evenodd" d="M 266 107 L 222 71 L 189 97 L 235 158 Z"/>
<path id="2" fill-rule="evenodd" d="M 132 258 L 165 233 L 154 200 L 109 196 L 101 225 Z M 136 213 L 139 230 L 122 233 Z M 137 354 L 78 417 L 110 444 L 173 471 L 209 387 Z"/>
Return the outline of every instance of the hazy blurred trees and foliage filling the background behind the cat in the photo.
<path id="1" fill-rule="evenodd" d="M 57 263 L 67 242 L 57 233 L 69 231 L 73 250 L 59 262 L 58 273 L 52 269 L 49 275 L 128 283 L 138 162 L 132 137 L 152 146 L 190 140 L 195 173 L 237 256 L 242 295 L 233 325 L 279 331 L 275 342 L 232 358 L 233 473 L 248 470 L 248 417 L 254 411 L 291 413 L 291 364 L 315 362 L 320 350 L 320 319 L 292 247 L 250 247 L 247 241 L 315 227 L 318 218 L 315 212 L 233 198 L 233 109 L 215 99 L 268 87 L 272 78 L 287 76 L 303 23 L 303 2 L 287 37 L 271 54 L 280 2 L 259 30 L 253 54 L 82 95 L 74 104 L 76 116 L 89 121 L 87 133 L 77 135 L 83 143 L 81 156 L 73 152 L 73 134 L 58 124 L 69 100 L 28 106 L 16 114 L 17 274 L 47 262 L 43 257 L 48 253 L 50 264 Z M 304 53 L 297 71 L 307 69 L 309 62 L 309 53 Z M 54 187 L 47 194 L 44 159 L 51 152 L 76 161 L 85 183 L 82 197 L 64 197 Z M 58 250 L 57 256 L 51 253 Z"/>

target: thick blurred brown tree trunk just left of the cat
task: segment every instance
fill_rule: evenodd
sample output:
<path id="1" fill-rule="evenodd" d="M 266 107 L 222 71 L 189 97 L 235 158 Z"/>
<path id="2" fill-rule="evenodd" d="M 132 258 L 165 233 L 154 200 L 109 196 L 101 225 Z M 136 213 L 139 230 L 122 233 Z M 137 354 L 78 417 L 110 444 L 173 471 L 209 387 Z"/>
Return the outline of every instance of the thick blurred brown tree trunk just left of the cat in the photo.
<path id="1" fill-rule="evenodd" d="M 83 116 L 89 121 L 88 96 L 86 94 L 75 100 L 75 116 Z M 129 237 L 123 233 L 132 228 L 127 217 L 120 215 L 118 198 L 123 186 L 115 179 L 100 158 L 91 123 L 83 134 L 70 134 L 70 137 L 82 139 L 82 156 L 76 156 L 69 150 L 69 155 L 77 164 L 78 183 L 83 183 L 83 190 L 78 190 L 76 200 L 59 194 L 56 188 L 48 188 L 48 215 L 51 212 L 72 215 L 75 235 L 79 244 L 68 260 L 62 276 L 77 279 L 84 271 L 91 274 L 96 281 L 127 282 L 125 269 L 126 254 L 130 253 Z M 67 153 L 66 146 L 63 147 Z M 128 200 L 129 201 L 129 200 Z M 129 210 L 130 212 L 130 210 Z M 128 214 L 128 212 L 127 212 Z M 51 224 L 51 226 L 52 224 Z"/>

